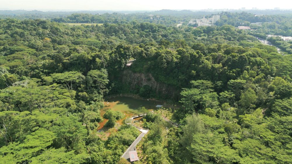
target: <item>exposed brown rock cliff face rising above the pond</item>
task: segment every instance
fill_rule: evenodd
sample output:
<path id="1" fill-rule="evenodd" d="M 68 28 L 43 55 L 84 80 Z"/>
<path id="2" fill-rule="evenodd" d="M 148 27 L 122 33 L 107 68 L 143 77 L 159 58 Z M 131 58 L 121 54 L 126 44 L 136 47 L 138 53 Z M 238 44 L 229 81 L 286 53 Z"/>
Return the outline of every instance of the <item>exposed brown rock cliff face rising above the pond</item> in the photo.
<path id="1" fill-rule="evenodd" d="M 126 69 L 122 72 L 121 79 L 125 85 L 129 85 L 133 89 L 137 85 L 140 87 L 149 85 L 159 97 L 173 98 L 175 100 L 179 98 L 179 89 L 171 87 L 168 84 L 156 82 L 150 73 L 133 73 L 131 70 Z"/>

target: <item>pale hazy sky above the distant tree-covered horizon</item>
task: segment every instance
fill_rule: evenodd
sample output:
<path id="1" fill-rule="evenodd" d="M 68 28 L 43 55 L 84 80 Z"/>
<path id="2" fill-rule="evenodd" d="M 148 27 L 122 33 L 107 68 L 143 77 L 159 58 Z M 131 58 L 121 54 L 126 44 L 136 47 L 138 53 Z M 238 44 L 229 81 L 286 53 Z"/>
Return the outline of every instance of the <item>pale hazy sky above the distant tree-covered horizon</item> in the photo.
<path id="1" fill-rule="evenodd" d="M 241 7 L 259 9 L 292 8 L 291 0 L 0 0 L 6 10 L 161 10 L 222 9 Z"/>

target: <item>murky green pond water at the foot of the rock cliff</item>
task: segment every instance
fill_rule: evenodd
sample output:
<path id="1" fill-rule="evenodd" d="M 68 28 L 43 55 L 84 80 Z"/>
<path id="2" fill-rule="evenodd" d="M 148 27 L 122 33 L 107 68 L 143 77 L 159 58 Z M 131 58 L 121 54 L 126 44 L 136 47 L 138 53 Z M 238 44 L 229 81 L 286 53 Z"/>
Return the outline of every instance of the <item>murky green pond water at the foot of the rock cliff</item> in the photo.
<path id="1" fill-rule="evenodd" d="M 108 104 L 107 104 L 108 102 Z M 121 112 L 130 111 L 136 114 L 141 113 L 141 108 L 146 107 L 148 110 L 156 109 L 156 105 L 162 105 L 162 102 L 153 100 L 141 100 L 136 98 L 118 96 L 105 100 L 105 106 L 109 106 L 112 110 Z"/>

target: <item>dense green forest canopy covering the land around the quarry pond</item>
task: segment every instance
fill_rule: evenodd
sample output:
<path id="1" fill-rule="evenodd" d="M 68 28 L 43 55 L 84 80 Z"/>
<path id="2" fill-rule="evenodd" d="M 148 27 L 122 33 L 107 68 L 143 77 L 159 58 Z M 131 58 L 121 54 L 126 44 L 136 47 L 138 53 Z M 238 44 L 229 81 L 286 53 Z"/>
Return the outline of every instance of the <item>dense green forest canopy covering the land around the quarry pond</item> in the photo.
<path id="1" fill-rule="evenodd" d="M 96 135 L 103 119 L 107 127 L 123 119 L 101 116 L 104 98 L 121 94 L 176 106 L 142 118 L 150 132 L 140 163 L 291 163 L 292 42 L 274 40 L 283 55 L 255 38 L 292 36 L 291 13 L 222 12 L 216 25 L 193 28 L 176 23 L 214 13 L 170 12 L 1 15 L 0 163 L 127 163 L 120 157 L 140 134 L 134 126 Z M 263 25 L 236 28 L 254 22 Z M 151 75 L 168 92 L 133 87 L 125 73 Z"/>

